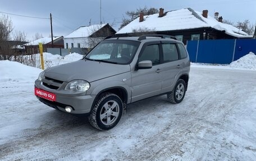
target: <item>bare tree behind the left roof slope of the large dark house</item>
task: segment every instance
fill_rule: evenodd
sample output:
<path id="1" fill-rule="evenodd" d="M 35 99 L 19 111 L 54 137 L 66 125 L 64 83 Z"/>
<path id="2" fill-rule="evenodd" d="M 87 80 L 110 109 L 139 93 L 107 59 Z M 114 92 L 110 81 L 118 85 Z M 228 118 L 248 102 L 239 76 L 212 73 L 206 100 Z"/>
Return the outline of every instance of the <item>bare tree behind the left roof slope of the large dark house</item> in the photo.
<path id="1" fill-rule="evenodd" d="M 157 10 L 157 8 L 139 8 L 136 11 L 126 11 L 125 14 L 128 16 L 127 18 L 123 18 L 122 19 L 122 24 L 120 26 L 120 29 L 122 29 L 122 27 L 128 25 L 131 21 L 135 20 L 140 13 L 144 13 L 144 15 L 153 15 L 155 13 L 158 13 L 159 11 Z"/>

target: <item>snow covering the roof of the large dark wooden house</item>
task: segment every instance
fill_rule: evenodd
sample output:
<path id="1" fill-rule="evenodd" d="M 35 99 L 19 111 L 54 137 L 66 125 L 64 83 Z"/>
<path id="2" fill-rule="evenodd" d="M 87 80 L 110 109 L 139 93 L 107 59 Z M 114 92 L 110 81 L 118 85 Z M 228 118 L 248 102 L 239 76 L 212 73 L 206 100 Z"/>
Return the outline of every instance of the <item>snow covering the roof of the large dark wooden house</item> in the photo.
<path id="1" fill-rule="evenodd" d="M 171 31 L 188 30 L 202 27 L 212 27 L 216 30 L 225 30 L 226 34 L 237 38 L 252 38 L 244 31 L 222 22 L 208 15 L 208 18 L 202 16 L 201 12 L 191 8 L 183 8 L 175 11 L 168 11 L 165 16 L 158 17 L 158 13 L 144 16 L 144 21 L 139 22 L 139 17 L 123 27 L 116 34 L 133 33 L 136 29 L 149 29 L 152 31 Z"/>

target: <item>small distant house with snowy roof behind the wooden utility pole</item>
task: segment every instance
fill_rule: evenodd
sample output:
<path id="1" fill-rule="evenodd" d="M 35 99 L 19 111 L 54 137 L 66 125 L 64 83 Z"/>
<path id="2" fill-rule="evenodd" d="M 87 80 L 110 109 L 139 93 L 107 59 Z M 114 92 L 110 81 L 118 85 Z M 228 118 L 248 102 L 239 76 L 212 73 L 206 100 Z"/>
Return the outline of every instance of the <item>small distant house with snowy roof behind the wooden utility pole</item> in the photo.
<path id="1" fill-rule="evenodd" d="M 47 48 L 64 48 L 63 45 L 63 36 L 53 36 L 53 45 L 52 37 L 44 37 L 32 42 L 24 44 L 26 48 L 26 53 L 35 54 L 39 53 L 39 43 L 43 44 L 43 52 L 47 51 Z"/>

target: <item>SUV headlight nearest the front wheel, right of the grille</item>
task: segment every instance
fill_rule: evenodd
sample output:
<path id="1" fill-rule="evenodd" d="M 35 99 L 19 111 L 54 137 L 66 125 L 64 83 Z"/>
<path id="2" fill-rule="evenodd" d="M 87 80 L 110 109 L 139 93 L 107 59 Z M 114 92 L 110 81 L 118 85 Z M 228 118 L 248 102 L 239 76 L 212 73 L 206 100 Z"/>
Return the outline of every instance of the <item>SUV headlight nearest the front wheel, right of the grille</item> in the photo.
<path id="1" fill-rule="evenodd" d="M 90 84 L 85 80 L 72 80 L 67 84 L 65 90 L 86 91 L 89 88 L 90 88 Z"/>

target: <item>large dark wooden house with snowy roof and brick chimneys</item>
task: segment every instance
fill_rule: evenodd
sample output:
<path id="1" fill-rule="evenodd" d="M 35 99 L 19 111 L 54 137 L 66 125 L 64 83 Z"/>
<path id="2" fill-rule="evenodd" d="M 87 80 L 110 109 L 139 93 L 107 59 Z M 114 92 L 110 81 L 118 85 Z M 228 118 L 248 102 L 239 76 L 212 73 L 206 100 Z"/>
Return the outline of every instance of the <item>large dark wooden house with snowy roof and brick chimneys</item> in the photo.
<path id="1" fill-rule="evenodd" d="M 131 21 L 119 30 L 116 35 L 166 34 L 176 36 L 186 44 L 187 40 L 208 39 L 244 39 L 252 38 L 235 26 L 222 23 L 222 16 L 218 12 L 214 17 L 208 15 L 208 10 L 202 12 L 191 8 L 143 15 Z"/>

